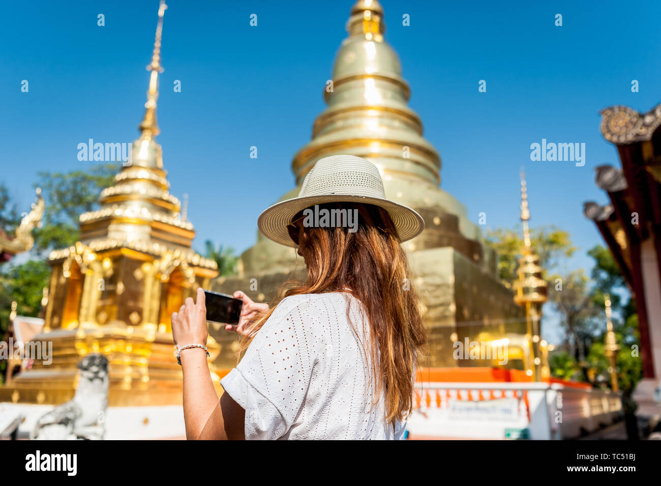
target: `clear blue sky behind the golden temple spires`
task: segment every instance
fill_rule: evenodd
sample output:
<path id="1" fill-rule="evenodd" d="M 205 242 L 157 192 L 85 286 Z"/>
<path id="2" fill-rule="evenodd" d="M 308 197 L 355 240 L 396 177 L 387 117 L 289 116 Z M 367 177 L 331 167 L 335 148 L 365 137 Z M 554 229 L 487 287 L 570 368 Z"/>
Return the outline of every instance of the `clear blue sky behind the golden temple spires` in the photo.
<path id="1" fill-rule="evenodd" d="M 606 202 L 594 167 L 619 165 L 600 135 L 599 112 L 613 104 L 647 111 L 660 101 L 661 5 L 500 4 L 384 0 L 385 38 L 401 58 L 410 106 L 441 154 L 442 188 L 473 222 L 486 212 L 488 227 L 512 227 L 525 167 L 531 225 L 569 231 L 579 252 L 568 268 L 588 267 L 585 251 L 602 239 L 582 203 Z M 189 194 L 198 249 L 205 239 L 247 249 L 260 211 L 293 187 L 292 155 L 325 107 L 323 88 L 351 6 L 169 2 L 159 142 L 171 192 Z M 0 180 L 23 208 L 38 171 L 89 164 L 78 161 L 78 143 L 137 137 L 157 7 L 157 0 L 3 5 Z M 29 93 L 20 91 L 23 79 Z M 486 93 L 478 92 L 481 79 Z M 639 93 L 631 92 L 633 79 Z M 542 138 L 586 143 L 586 164 L 530 161 L 530 144 Z"/>

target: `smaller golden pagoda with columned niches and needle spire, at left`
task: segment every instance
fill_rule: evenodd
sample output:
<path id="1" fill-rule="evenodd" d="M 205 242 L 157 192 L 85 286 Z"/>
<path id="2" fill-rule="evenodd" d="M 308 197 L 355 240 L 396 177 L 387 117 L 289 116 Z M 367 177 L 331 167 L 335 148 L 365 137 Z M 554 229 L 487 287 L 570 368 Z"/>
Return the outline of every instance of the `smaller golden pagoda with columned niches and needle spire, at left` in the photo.
<path id="1" fill-rule="evenodd" d="M 11 387 L 0 387 L 0 401 L 62 403 L 73 397 L 81 356 L 98 352 L 110 364 L 109 405 L 181 403 L 171 315 L 218 272 L 215 261 L 191 248 L 195 231 L 168 192 L 155 140 L 165 9 L 161 0 L 146 111 L 132 158 L 101 192 L 101 208 L 80 216 L 80 241 L 50 253 L 46 323 L 34 341 L 52 342 L 52 364 L 35 360 Z M 214 358 L 219 349 L 210 341 Z M 212 378 L 220 389 L 218 376 Z"/>

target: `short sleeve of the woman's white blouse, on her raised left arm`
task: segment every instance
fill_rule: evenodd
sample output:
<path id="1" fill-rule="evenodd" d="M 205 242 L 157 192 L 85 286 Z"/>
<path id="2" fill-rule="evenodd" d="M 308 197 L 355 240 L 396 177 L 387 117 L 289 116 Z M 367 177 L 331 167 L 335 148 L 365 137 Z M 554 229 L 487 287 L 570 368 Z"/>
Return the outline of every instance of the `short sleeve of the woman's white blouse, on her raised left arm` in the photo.
<path id="1" fill-rule="evenodd" d="M 221 380 L 245 410 L 246 439 L 280 438 L 299 415 L 314 364 L 305 326 L 307 302 L 308 296 L 282 300 L 241 362 Z"/>

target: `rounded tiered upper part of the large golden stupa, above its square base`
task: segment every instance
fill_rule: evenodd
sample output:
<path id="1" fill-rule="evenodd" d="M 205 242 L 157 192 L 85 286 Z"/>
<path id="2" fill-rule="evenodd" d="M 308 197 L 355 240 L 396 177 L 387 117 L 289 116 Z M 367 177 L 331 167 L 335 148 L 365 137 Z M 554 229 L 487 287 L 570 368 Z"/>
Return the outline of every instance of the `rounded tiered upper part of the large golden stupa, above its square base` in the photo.
<path id="1" fill-rule="evenodd" d="M 423 233 L 406 244 L 410 251 L 452 247 L 495 274 L 494 255 L 480 243 L 479 228 L 466 210 L 439 188 L 438 151 L 422 136 L 422 122 L 408 107 L 410 90 L 397 53 L 385 42 L 383 8 L 360 0 L 346 24 L 324 90 L 328 108 L 313 124 L 312 140 L 293 157 L 297 186 L 317 160 L 329 155 L 364 157 L 379 169 L 386 196 L 414 208 L 425 220 Z M 297 196 L 299 187 L 280 200 Z M 245 274 L 290 268 L 293 253 L 262 235 L 241 255 Z"/>

